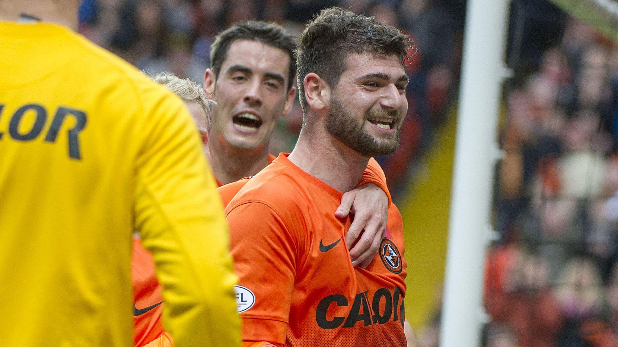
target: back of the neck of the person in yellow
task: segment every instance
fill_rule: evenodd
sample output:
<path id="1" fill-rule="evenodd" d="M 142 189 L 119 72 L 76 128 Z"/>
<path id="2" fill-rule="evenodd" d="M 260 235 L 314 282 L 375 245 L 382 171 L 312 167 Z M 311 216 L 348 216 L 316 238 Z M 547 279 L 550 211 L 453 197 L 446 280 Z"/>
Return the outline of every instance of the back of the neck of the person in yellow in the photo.
<path id="1" fill-rule="evenodd" d="M 77 30 L 77 7 L 67 1 L 9 0 L 0 1 L 0 20 L 41 20 Z"/>

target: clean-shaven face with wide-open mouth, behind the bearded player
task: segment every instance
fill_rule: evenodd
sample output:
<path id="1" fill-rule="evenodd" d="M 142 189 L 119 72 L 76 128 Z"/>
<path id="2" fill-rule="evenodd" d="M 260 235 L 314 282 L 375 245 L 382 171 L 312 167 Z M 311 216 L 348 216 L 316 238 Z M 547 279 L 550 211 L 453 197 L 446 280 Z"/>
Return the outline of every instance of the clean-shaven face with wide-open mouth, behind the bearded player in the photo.
<path id="1" fill-rule="evenodd" d="M 287 115 L 295 89 L 288 90 L 288 52 L 258 41 L 237 40 L 227 51 L 219 76 L 208 69 L 206 94 L 213 107 L 210 138 L 236 149 L 268 149 L 279 117 Z"/>

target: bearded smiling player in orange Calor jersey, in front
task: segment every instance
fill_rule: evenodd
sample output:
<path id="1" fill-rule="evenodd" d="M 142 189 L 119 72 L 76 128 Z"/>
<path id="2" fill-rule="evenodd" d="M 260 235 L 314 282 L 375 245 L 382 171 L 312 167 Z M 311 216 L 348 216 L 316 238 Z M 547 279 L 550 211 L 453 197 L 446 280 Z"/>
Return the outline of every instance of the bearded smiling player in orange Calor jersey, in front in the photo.
<path id="1" fill-rule="evenodd" d="M 332 210 L 370 157 L 399 145 L 412 42 L 340 8 L 323 10 L 299 41 L 298 142 L 226 207 L 244 345 L 406 346 L 399 211 L 389 207 L 379 254 L 362 268 L 349 258 L 350 219 Z"/>

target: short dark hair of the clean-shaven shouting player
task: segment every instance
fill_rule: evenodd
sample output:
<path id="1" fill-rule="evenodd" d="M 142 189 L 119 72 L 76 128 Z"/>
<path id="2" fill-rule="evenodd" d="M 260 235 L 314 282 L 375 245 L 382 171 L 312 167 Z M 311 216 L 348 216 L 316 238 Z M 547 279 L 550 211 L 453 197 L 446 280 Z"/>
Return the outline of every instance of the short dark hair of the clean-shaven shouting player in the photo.
<path id="1" fill-rule="evenodd" d="M 210 46 L 210 66 L 214 76 L 218 77 L 221 65 L 227 59 L 227 52 L 236 40 L 258 41 L 275 48 L 283 49 L 290 56 L 289 80 L 287 90 L 292 88 L 292 82 L 296 75 L 296 59 L 294 48 L 296 40 L 289 35 L 284 27 L 277 23 L 267 23 L 261 20 L 248 20 L 247 22 L 235 23 L 224 31 L 221 31 Z"/>

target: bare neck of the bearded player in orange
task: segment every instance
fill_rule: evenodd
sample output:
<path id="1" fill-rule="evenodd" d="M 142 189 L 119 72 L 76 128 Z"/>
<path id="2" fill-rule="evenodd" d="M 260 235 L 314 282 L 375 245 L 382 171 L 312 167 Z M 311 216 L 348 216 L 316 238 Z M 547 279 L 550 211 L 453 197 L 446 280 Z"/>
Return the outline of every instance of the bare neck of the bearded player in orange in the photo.
<path id="1" fill-rule="evenodd" d="M 325 130 L 309 133 L 305 129 L 288 159 L 342 193 L 358 186 L 369 162 L 368 157 L 335 140 Z"/>

